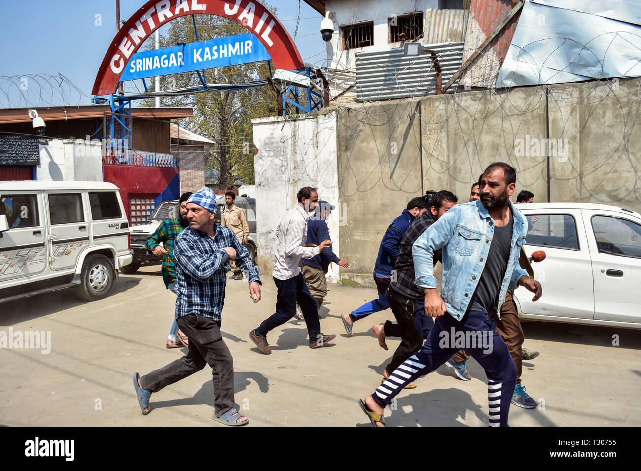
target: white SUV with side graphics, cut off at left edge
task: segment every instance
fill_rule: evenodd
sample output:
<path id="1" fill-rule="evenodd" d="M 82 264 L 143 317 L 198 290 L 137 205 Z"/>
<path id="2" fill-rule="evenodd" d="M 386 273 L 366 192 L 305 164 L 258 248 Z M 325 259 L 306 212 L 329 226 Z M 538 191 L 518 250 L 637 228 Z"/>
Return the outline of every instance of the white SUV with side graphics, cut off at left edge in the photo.
<path id="1" fill-rule="evenodd" d="M 131 262 L 117 186 L 0 181 L 0 302 L 75 287 L 107 295 Z"/>

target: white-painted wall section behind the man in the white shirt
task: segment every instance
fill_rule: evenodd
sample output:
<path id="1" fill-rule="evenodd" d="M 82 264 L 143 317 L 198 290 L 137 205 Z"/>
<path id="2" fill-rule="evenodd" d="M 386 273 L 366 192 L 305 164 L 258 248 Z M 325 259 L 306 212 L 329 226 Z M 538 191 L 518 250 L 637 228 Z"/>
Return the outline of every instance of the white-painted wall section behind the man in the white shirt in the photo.
<path id="1" fill-rule="evenodd" d="M 328 226 L 332 249 L 340 256 L 336 114 L 321 112 L 286 120 L 269 117 L 255 119 L 253 125 L 258 147 L 254 157 L 258 265 L 263 276 L 270 276 L 274 266 L 276 227 L 285 211 L 297 204 L 296 194 L 303 186 L 317 188 L 320 199 L 337 206 Z M 330 283 L 338 282 L 338 269 L 331 265 Z"/>

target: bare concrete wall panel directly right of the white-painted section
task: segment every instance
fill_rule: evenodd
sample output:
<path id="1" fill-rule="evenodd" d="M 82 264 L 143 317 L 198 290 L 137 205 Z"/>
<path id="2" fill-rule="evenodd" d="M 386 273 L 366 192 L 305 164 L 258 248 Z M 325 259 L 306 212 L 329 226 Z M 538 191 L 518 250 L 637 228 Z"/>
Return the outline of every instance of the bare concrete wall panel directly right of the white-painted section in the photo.
<path id="1" fill-rule="evenodd" d="M 423 194 L 419 100 L 394 100 L 338 114 L 338 189 L 345 208 L 340 244 L 345 282 L 370 285 L 385 229 Z"/>

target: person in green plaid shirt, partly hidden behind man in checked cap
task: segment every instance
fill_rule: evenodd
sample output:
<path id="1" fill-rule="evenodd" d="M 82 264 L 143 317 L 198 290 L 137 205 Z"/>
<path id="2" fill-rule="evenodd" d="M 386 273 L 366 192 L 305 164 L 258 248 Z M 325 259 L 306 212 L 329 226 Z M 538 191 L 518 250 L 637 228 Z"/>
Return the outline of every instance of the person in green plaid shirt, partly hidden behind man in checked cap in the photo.
<path id="1" fill-rule="evenodd" d="M 165 283 L 165 288 L 174 294 L 178 294 L 176 269 L 174 265 L 174 240 L 185 227 L 189 226 L 189 221 L 187 220 L 187 199 L 191 195 L 192 192 L 186 192 L 181 195 L 178 202 L 178 217 L 163 220 L 160 226 L 158 226 L 158 229 L 149 236 L 147 244 L 145 245 L 147 250 L 151 251 L 155 256 L 162 257 L 162 281 Z M 162 245 L 160 245 L 161 243 Z M 175 318 L 169 329 L 165 346 L 168 349 L 189 346 L 187 336 L 178 328 Z"/>

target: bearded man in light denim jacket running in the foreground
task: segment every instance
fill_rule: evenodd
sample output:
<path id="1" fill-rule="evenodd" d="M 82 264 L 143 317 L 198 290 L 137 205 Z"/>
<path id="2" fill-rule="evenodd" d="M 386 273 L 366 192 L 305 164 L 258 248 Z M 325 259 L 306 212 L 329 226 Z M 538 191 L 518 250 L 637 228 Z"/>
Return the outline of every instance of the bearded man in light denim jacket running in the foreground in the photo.
<path id="1" fill-rule="evenodd" d="M 533 301 L 542 294 L 540 283 L 519 267 L 528 225 L 510 202 L 515 186 L 513 167 L 490 164 L 479 181 L 481 200 L 454 206 L 413 245 L 415 283 L 424 290 L 426 315 L 437 320 L 420 350 L 359 401 L 372 426 L 385 426 L 383 408 L 409 383 L 445 363 L 462 347 L 461 339 L 488 378 L 490 427 L 508 426 L 517 368 L 490 315 L 503 305 L 508 288 L 525 286 L 535 293 Z M 438 250 L 443 297 L 434 277 Z"/>

